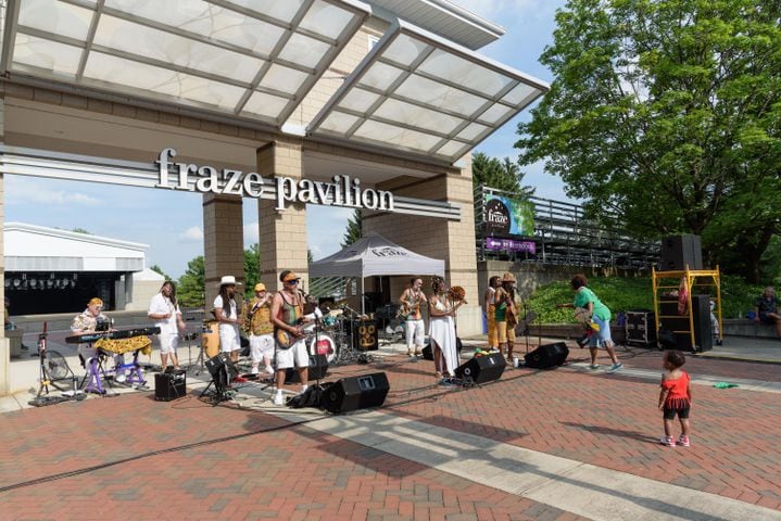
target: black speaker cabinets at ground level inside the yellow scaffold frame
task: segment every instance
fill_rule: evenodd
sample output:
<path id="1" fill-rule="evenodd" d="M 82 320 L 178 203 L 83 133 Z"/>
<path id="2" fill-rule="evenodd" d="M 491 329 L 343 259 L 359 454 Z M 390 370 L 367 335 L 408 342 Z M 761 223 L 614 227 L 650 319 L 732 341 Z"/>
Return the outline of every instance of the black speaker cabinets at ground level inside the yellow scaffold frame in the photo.
<path id="1" fill-rule="evenodd" d="M 659 330 L 665 331 L 665 339 L 668 339 L 662 342 L 663 347 L 691 351 L 692 353 L 714 348 L 713 331 L 710 330 L 710 297 L 708 295 L 692 295 L 691 298 L 694 346 L 692 346 L 689 317 L 678 315 L 678 301 L 662 301 L 659 305 Z M 675 344 L 671 342 L 673 336 Z"/>

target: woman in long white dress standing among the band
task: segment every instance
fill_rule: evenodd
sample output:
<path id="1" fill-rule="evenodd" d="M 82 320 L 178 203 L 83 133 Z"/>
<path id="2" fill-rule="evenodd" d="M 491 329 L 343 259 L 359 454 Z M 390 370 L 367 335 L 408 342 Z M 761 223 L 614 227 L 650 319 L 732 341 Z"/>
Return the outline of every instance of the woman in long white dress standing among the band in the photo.
<path id="1" fill-rule="evenodd" d="M 455 376 L 455 368 L 458 367 L 458 354 L 455 348 L 455 323 L 453 316 L 462 303 L 451 306 L 445 296 L 445 283 L 439 277 L 431 281 L 431 298 L 429 306 L 429 335 L 431 336 L 431 350 L 433 351 L 433 364 L 437 371 L 437 379 L 445 374 Z"/>

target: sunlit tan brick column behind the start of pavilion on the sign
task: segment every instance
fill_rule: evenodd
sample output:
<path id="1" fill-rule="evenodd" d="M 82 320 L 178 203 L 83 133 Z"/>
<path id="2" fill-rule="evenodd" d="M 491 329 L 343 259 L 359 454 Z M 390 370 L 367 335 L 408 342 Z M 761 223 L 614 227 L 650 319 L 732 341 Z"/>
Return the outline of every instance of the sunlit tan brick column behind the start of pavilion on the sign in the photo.
<path id="1" fill-rule="evenodd" d="M 281 138 L 257 150 L 257 171 L 264 179 L 273 176 L 301 179 L 303 149 L 300 139 Z M 261 281 L 269 291 L 279 288 L 279 272 L 292 269 L 308 289 L 306 259 L 306 205 L 291 204 L 284 211 L 275 201 L 259 201 Z"/>

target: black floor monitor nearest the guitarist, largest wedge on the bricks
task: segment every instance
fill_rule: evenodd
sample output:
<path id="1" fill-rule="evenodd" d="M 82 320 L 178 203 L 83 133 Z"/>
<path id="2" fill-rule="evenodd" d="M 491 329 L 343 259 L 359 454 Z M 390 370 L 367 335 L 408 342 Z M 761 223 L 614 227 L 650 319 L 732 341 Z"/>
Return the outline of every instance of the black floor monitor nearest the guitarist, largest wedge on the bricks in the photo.
<path id="1" fill-rule="evenodd" d="M 385 372 L 341 378 L 323 393 L 323 407 L 333 414 L 379 407 L 390 385 Z"/>

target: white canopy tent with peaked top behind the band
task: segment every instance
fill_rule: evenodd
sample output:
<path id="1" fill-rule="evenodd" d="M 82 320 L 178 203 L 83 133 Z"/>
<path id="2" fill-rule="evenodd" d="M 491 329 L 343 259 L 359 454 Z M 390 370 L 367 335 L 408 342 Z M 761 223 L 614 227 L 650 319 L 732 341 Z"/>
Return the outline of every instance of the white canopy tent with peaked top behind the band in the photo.
<path id="1" fill-rule="evenodd" d="M 411 252 L 373 232 L 344 250 L 310 264 L 310 277 L 360 277 L 362 296 L 365 277 L 391 275 L 444 277 L 444 260 Z M 361 312 L 363 310 L 362 297 Z"/>

